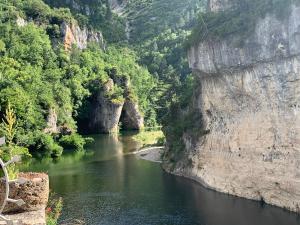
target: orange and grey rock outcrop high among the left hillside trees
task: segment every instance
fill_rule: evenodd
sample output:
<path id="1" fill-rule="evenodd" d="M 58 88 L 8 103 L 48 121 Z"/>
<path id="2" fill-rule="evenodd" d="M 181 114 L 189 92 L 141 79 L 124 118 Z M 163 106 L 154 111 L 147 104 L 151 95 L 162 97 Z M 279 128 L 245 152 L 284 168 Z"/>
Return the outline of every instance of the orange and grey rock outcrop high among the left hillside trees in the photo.
<path id="1" fill-rule="evenodd" d="M 80 28 L 76 23 L 62 23 L 61 34 L 66 50 L 70 50 L 73 45 L 79 49 L 87 48 L 89 42 L 99 44 L 102 49 L 105 49 L 105 43 L 101 32 L 88 30 L 86 27 Z"/>

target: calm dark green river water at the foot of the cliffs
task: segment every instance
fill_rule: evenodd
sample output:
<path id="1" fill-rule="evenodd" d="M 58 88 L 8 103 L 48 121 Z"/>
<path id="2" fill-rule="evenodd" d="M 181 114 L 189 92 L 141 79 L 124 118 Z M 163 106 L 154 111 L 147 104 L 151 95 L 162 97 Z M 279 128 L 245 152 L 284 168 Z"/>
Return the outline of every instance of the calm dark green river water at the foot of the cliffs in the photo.
<path id="1" fill-rule="evenodd" d="M 129 135 L 95 136 L 86 154 L 35 161 L 51 189 L 64 199 L 61 220 L 88 225 L 299 225 L 282 209 L 220 194 L 165 173 L 159 164 L 127 154 L 138 146 Z"/>

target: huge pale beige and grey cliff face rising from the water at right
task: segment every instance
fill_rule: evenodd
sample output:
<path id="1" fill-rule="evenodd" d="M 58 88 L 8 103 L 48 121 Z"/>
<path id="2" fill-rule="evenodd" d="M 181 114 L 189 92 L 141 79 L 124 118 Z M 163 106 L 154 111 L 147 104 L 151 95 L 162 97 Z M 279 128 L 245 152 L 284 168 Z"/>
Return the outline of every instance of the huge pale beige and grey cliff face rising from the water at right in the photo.
<path id="1" fill-rule="evenodd" d="M 184 156 L 164 166 L 212 189 L 300 212 L 300 7 L 284 19 L 268 14 L 242 47 L 234 43 L 190 49 L 201 85 L 188 110 L 199 114 L 193 122 L 202 135 L 185 133 Z"/>

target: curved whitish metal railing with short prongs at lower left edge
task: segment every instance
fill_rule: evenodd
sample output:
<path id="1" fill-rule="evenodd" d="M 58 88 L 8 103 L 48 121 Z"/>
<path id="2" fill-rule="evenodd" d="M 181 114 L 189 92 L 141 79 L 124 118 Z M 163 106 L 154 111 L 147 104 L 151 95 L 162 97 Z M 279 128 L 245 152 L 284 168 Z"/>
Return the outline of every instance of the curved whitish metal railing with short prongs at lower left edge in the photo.
<path id="1" fill-rule="evenodd" d="M 5 139 L 4 138 L 0 138 L 0 145 L 3 145 L 5 144 Z M 10 183 L 19 183 L 19 184 L 24 184 L 26 182 L 26 179 L 24 178 L 19 178 L 17 180 L 10 180 L 9 179 L 9 176 L 8 176 L 8 171 L 7 171 L 7 167 L 10 165 L 10 164 L 13 164 L 13 163 L 16 163 L 16 162 L 19 162 L 21 160 L 21 157 L 20 156 L 14 156 L 11 160 L 9 160 L 8 162 L 4 162 L 1 158 L 0 158 L 0 166 L 1 166 L 1 169 L 4 173 L 4 181 L 5 181 L 5 196 L 4 196 L 4 200 L 3 200 L 3 203 L 2 205 L 0 206 L 0 221 L 4 221 L 6 222 L 7 225 L 16 225 L 16 224 L 19 224 L 18 221 L 12 221 L 10 219 L 8 219 L 7 217 L 5 217 L 2 213 L 3 213 L 3 210 L 6 206 L 7 203 L 11 202 L 11 203 L 14 203 L 14 204 L 17 204 L 18 206 L 22 206 L 25 204 L 25 202 L 22 200 L 22 199 L 18 199 L 18 200 L 15 200 L 15 199 L 11 199 L 9 198 L 9 184 Z"/>

